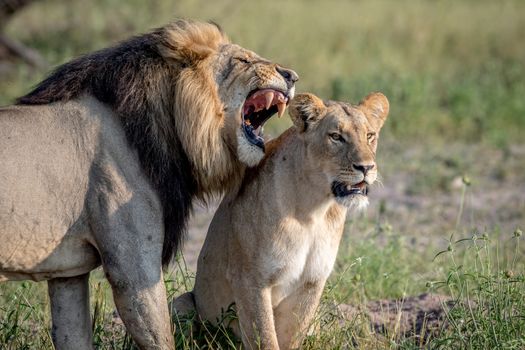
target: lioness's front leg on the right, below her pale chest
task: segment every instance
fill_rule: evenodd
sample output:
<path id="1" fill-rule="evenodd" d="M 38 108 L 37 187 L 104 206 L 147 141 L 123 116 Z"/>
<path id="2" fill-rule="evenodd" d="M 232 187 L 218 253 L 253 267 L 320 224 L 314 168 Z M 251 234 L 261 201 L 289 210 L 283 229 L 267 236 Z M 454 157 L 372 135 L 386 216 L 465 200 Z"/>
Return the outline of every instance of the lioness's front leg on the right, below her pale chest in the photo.
<path id="1" fill-rule="evenodd" d="M 324 282 L 305 282 L 275 309 L 275 328 L 281 350 L 299 349 L 314 318 Z"/>

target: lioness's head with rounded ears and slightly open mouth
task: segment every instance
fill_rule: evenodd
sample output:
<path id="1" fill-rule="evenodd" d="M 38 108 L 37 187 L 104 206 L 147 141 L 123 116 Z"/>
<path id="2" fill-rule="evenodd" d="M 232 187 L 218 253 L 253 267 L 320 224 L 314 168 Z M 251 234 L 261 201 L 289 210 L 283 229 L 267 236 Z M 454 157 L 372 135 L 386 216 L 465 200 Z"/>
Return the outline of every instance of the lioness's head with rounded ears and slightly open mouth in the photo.
<path id="1" fill-rule="evenodd" d="M 352 208 L 368 204 L 368 186 L 377 178 L 375 161 L 379 130 L 389 104 L 381 93 L 359 105 L 326 101 L 300 94 L 290 104 L 290 116 L 307 147 L 305 161 L 317 164 L 335 199 Z"/>

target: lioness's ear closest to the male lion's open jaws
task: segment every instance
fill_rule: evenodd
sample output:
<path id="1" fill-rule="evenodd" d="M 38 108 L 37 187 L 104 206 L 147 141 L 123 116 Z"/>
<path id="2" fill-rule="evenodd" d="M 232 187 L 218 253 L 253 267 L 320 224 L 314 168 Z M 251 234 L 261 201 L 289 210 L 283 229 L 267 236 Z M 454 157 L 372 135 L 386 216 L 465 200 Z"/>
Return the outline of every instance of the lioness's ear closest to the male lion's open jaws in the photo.
<path id="1" fill-rule="evenodd" d="M 308 130 L 326 114 L 323 100 L 314 94 L 304 93 L 294 97 L 288 113 L 297 129 L 301 132 Z"/>

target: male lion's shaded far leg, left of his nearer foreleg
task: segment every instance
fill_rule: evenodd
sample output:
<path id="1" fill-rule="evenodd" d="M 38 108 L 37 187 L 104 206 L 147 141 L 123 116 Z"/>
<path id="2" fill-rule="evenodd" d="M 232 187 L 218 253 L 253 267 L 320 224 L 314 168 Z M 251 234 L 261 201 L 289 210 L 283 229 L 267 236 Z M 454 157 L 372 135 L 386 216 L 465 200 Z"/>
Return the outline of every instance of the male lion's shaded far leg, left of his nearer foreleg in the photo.
<path id="1" fill-rule="evenodd" d="M 89 273 L 47 281 L 53 328 L 51 337 L 58 350 L 93 349 L 89 314 Z"/>

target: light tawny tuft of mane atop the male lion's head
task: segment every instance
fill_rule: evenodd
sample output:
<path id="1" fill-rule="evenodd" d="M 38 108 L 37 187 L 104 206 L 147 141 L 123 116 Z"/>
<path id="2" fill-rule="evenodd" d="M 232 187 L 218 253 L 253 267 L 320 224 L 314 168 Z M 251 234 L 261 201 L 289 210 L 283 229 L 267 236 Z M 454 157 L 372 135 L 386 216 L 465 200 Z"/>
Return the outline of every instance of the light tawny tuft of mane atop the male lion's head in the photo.
<path id="1" fill-rule="evenodd" d="M 228 38 L 216 24 L 179 20 L 164 28 L 159 49 L 165 58 L 191 65 L 226 43 Z"/>

